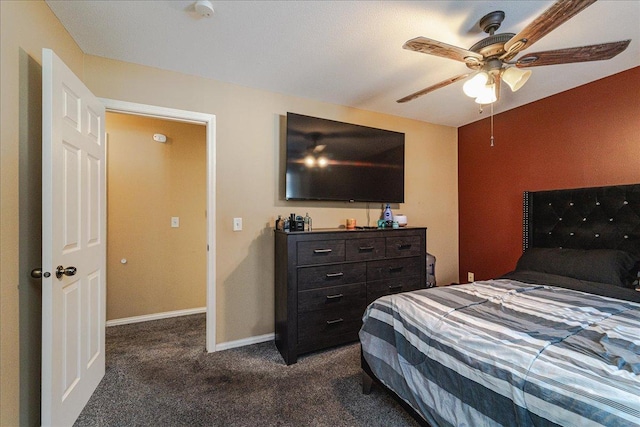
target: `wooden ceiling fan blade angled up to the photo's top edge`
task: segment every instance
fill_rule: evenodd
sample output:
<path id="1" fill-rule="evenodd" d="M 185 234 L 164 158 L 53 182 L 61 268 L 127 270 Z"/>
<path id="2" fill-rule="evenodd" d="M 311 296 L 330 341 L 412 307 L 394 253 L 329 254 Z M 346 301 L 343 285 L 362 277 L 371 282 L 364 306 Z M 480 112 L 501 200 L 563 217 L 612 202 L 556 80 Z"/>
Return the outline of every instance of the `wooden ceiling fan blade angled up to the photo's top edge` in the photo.
<path id="1" fill-rule="evenodd" d="M 567 22 L 573 16 L 595 3 L 596 0 L 559 0 L 544 11 L 522 31 L 504 44 L 507 52 L 503 60 L 510 60 L 521 50 L 528 48 L 551 31 Z"/>

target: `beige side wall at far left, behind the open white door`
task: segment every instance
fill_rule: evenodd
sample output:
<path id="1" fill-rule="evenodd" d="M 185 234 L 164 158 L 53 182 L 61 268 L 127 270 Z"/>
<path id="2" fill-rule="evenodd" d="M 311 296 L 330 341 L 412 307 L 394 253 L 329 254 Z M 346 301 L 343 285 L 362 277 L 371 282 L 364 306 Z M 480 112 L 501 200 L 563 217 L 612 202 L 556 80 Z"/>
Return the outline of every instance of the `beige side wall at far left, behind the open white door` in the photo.
<path id="1" fill-rule="evenodd" d="M 0 1 L 0 31 L 0 425 L 18 425 L 20 413 L 23 424 L 34 425 L 40 421 L 40 383 L 39 371 L 33 370 L 40 359 L 26 340 L 39 330 L 39 319 L 23 314 L 38 312 L 32 305 L 38 302 L 39 285 L 29 280 L 19 251 L 28 252 L 33 240 L 39 242 L 40 230 L 37 224 L 25 230 L 20 221 L 29 212 L 19 212 L 19 206 L 30 196 L 19 191 L 20 155 L 23 145 L 41 141 L 34 130 L 39 129 L 42 94 L 33 83 L 41 74 L 42 48 L 55 50 L 80 78 L 83 53 L 41 1 Z M 22 408 L 19 400 L 25 402 Z"/>

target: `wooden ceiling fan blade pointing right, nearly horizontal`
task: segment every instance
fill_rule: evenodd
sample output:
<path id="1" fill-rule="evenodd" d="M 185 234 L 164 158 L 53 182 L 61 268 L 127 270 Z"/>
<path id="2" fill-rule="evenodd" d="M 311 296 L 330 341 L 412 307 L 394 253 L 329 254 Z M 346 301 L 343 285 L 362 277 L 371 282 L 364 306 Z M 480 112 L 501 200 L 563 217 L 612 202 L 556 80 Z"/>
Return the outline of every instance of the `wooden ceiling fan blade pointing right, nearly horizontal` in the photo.
<path id="1" fill-rule="evenodd" d="M 540 67 L 542 65 L 570 64 L 572 62 L 602 61 L 611 59 L 624 51 L 630 42 L 631 40 L 622 40 L 591 46 L 529 53 L 518 59 L 516 67 Z"/>

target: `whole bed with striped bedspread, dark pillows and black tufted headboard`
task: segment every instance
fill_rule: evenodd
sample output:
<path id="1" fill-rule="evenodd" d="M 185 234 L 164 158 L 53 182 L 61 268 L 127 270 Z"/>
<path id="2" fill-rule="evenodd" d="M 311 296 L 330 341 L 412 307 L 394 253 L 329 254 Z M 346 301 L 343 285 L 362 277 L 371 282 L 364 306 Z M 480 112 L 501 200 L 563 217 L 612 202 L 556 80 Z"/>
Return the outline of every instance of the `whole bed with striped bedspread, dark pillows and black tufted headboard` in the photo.
<path id="1" fill-rule="evenodd" d="M 363 390 L 432 426 L 640 425 L 640 184 L 523 202 L 514 271 L 367 308 Z"/>

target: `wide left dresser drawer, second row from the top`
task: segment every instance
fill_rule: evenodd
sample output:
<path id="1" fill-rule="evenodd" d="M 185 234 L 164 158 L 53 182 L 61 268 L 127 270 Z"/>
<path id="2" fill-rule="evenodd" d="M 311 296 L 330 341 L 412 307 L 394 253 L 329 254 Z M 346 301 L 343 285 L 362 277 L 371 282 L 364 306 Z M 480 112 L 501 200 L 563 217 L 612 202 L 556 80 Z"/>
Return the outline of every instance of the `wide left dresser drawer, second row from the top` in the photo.
<path id="1" fill-rule="evenodd" d="M 324 288 L 364 282 L 367 279 L 365 263 L 319 265 L 298 268 L 298 290 Z"/>

